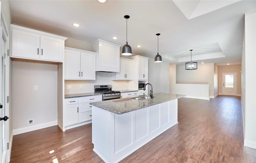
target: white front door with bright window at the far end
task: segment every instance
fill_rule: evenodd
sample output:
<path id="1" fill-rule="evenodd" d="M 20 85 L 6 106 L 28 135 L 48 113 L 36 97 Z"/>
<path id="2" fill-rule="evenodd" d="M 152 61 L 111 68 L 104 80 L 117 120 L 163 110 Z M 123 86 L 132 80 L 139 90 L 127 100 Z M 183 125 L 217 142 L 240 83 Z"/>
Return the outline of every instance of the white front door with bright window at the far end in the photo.
<path id="1" fill-rule="evenodd" d="M 222 73 L 223 95 L 236 96 L 236 73 Z"/>

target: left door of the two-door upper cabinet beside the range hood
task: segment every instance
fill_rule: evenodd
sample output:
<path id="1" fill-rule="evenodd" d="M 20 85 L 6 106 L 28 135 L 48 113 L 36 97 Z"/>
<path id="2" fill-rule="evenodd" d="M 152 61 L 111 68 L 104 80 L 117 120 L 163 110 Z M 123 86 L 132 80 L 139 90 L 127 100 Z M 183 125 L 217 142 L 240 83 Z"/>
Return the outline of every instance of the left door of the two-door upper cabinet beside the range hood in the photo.
<path id="1" fill-rule="evenodd" d="M 80 52 L 65 50 L 65 80 L 80 79 Z"/>

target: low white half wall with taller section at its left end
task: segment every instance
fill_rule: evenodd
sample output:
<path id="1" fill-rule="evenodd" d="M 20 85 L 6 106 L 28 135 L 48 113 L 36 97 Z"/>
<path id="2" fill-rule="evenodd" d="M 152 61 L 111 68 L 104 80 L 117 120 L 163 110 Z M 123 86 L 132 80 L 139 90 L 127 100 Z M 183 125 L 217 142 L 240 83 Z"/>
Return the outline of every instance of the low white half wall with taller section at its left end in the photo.
<path id="1" fill-rule="evenodd" d="M 209 100 L 209 84 L 176 84 L 176 65 L 170 65 L 170 93 Z"/>

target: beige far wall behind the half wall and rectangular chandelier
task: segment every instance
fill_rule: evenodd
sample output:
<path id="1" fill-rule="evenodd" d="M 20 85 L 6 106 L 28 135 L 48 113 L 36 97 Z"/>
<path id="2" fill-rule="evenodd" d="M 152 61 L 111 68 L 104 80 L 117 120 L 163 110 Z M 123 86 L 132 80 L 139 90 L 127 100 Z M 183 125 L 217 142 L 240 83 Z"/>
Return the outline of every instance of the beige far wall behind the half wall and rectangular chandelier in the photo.
<path id="1" fill-rule="evenodd" d="M 185 65 L 176 67 L 177 84 L 209 84 L 209 94 L 214 98 L 214 63 L 198 64 L 196 70 L 186 70 Z"/>

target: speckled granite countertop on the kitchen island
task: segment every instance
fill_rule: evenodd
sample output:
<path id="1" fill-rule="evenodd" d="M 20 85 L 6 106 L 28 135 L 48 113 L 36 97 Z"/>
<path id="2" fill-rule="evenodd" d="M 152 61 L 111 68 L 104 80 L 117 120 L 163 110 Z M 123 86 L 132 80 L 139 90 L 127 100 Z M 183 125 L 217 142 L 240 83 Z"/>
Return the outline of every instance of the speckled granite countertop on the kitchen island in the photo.
<path id="1" fill-rule="evenodd" d="M 124 114 L 132 112 L 134 110 L 139 110 L 146 108 L 148 106 L 160 104 L 166 101 L 174 100 L 177 98 L 184 97 L 186 95 L 182 94 L 167 94 L 167 93 L 156 93 L 154 98 L 144 99 L 144 100 L 135 100 L 131 98 L 119 98 L 114 100 L 106 100 L 100 102 L 92 102 L 90 105 L 102 108 L 109 112 L 115 114 Z"/>

